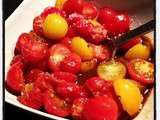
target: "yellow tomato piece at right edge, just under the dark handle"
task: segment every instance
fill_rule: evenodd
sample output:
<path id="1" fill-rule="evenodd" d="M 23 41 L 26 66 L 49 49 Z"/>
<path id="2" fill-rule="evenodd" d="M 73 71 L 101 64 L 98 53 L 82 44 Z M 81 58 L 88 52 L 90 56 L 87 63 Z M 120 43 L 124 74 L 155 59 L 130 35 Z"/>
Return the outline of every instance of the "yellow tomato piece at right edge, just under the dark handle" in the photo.
<path id="1" fill-rule="evenodd" d="M 125 54 L 125 58 L 128 60 L 135 58 L 141 58 L 146 60 L 149 57 L 150 57 L 150 48 L 141 43 L 130 48 Z"/>

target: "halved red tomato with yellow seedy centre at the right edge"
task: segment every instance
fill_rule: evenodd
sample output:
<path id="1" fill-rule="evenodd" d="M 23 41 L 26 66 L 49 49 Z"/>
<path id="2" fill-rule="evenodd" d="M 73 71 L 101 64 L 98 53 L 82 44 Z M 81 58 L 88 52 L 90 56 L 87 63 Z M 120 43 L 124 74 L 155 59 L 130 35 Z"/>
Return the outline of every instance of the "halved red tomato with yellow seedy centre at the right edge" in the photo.
<path id="1" fill-rule="evenodd" d="M 133 80 L 142 84 L 154 83 L 154 65 L 143 59 L 131 60 L 128 65 L 128 74 Z"/>

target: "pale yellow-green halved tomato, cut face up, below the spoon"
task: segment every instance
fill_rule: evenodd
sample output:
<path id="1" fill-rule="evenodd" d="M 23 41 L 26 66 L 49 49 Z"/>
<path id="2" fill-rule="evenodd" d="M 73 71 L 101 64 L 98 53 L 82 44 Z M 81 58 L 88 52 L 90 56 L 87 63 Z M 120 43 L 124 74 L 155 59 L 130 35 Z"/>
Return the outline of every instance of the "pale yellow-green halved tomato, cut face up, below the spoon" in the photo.
<path id="1" fill-rule="evenodd" d="M 100 78 L 106 81 L 114 81 L 125 77 L 126 67 L 121 62 L 108 61 L 98 66 L 97 73 Z"/>

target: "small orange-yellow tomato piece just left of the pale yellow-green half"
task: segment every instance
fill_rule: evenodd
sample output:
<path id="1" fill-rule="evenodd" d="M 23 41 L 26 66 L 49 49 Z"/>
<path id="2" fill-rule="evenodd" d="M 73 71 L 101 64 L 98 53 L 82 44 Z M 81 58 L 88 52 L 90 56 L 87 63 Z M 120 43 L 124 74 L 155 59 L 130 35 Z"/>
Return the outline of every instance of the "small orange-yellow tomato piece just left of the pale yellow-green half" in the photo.
<path id="1" fill-rule="evenodd" d="M 81 72 L 88 72 L 96 67 L 97 60 L 84 61 L 81 63 Z"/>

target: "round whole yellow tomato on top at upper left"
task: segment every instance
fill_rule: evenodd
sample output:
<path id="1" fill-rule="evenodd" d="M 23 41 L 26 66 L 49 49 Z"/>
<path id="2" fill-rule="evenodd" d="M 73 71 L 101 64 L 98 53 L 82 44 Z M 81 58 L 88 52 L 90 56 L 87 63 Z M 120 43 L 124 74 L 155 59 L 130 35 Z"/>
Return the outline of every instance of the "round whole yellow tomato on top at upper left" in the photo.
<path id="1" fill-rule="evenodd" d="M 50 14 L 44 21 L 43 32 L 49 39 L 63 38 L 68 31 L 67 21 L 59 14 Z"/>

